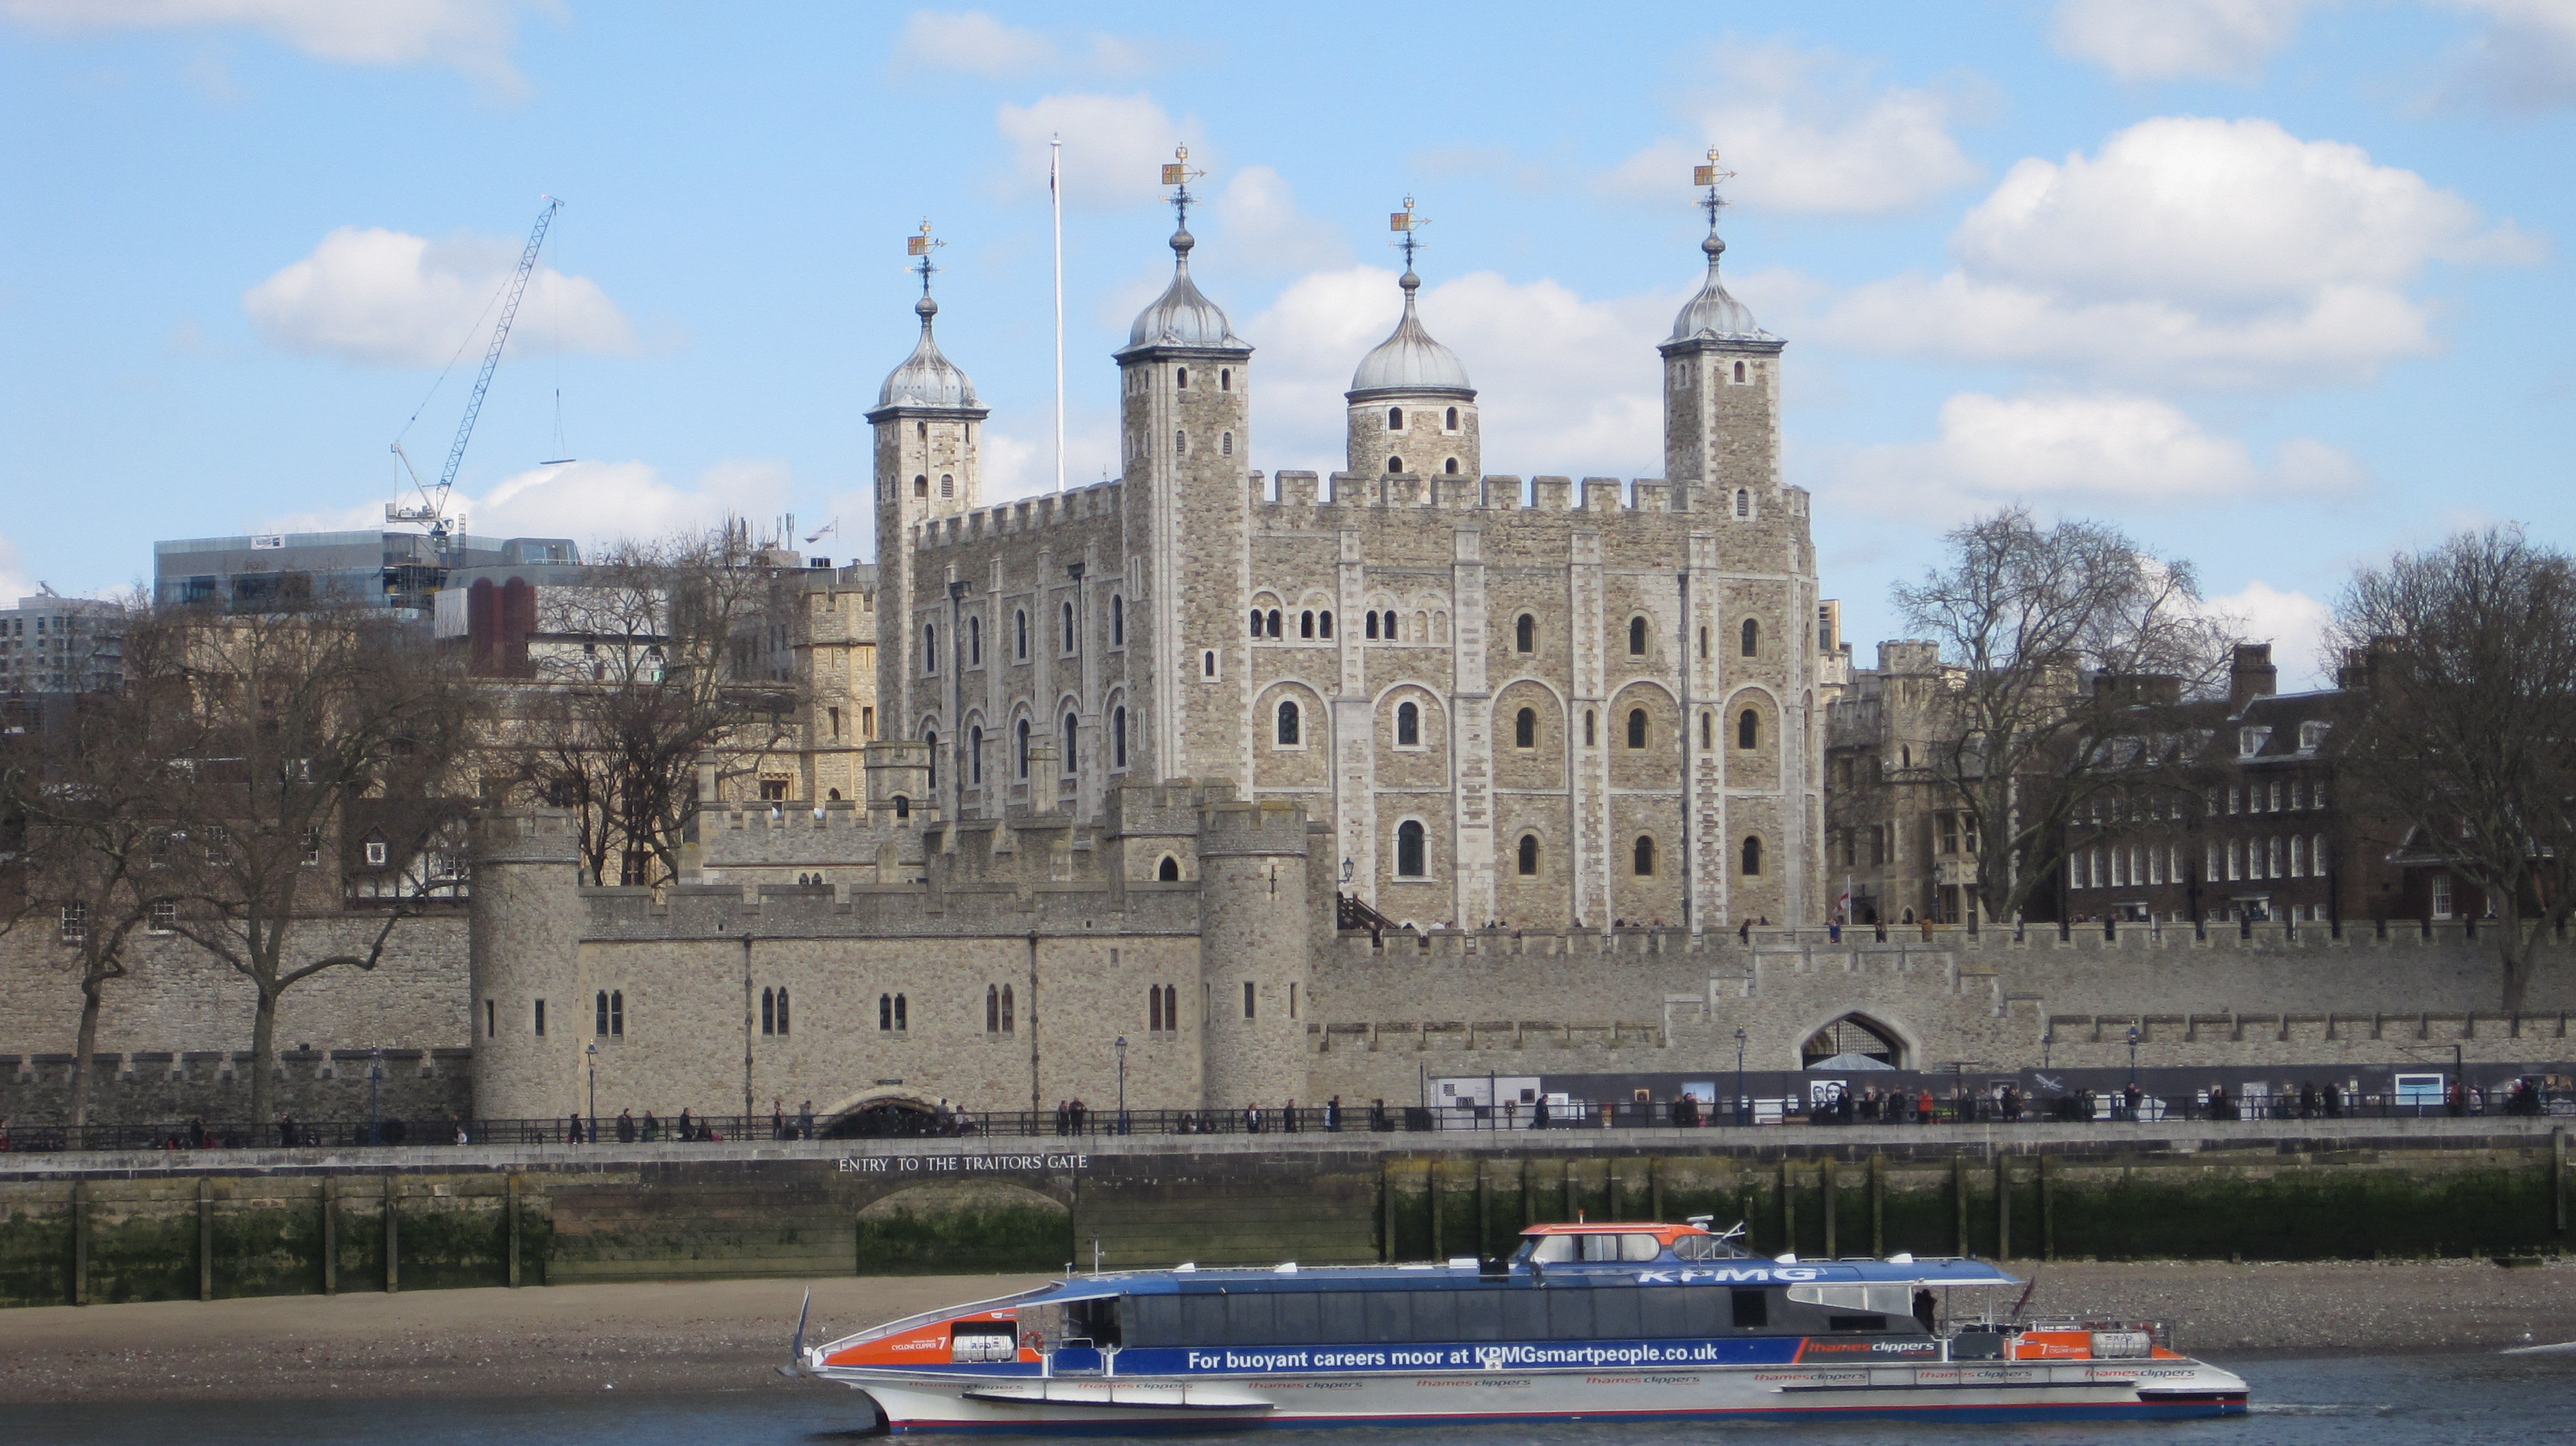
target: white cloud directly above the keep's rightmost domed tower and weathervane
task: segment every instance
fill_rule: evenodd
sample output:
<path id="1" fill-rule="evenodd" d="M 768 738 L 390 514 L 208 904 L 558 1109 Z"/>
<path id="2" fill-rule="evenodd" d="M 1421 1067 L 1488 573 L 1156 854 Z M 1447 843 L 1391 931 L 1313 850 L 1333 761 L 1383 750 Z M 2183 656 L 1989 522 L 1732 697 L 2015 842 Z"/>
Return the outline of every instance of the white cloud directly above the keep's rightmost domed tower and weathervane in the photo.
<path id="1" fill-rule="evenodd" d="M 1680 111 L 1710 137 L 1736 180 L 1728 198 L 1772 211 L 1873 214 L 1917 206 L 1978 168 L 1950 139 L 1953 103 L 1932 90 L 1873 88 L 1834 52 L 1723 44 L 1718 85 Z M 1708 142 L 1659 142 L 1607 178 L 1613 191 L 1672 196 Z"/>

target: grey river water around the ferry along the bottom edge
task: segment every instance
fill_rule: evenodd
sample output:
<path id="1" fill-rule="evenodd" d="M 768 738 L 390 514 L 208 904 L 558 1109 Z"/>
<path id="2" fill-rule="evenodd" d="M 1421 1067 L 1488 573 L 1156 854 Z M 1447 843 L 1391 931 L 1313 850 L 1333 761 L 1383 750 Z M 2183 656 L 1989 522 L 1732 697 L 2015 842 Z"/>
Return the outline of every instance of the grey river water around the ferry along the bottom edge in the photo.
<path id="1" fill-rule="evenodd" d="M 2223 1361 L 2226 1364 L 2226 1361 Z M 1618 1425 L 1443 1428 L 1394 1433 L 1404 1446 L 1705 1446 L 1744 1433 L 1788 1446 L 2530 1446 L 2576 1443 L 2576 1353 L 2342 1356 L 2236 1361 L 2254 1410 L 2228 1420 L 2115 1425 Z M 750 1392 L 600 1392 L 538 1400 L 289 1400 L 0 1405 L 0 1443 L 26 1446 L 835 1446 L 860 1441 L 868 1415 L 842 1387 Z M 1332 1441 L 1350 1431 L 1262 1431 L 1262 1446 Z"/>

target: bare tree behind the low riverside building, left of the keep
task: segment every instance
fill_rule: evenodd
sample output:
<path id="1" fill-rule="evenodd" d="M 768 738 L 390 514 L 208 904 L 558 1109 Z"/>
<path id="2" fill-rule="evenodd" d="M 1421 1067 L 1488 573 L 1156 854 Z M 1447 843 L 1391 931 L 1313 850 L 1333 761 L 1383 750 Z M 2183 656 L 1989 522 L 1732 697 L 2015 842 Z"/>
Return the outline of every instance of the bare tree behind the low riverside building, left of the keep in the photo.
<path id="1" fill-rule="evenodd" d="M 677 879 L 698 771 L 755 768 L 788 737 L 791 683 L 762 675 L 781 601 L 739 526 L 623 544 L 546 590 L 500 737 L 507 771 L 572 812 L 592 882 Z"/>

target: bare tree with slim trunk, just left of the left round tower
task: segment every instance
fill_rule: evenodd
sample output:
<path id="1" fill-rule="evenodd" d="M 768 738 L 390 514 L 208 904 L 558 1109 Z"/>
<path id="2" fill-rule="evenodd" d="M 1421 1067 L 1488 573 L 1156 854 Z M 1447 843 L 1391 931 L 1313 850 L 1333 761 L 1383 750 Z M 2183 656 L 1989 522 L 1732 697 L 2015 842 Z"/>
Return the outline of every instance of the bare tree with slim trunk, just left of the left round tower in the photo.
<path id="1" fill-rule="evenodd" d="M 180 608 L 167 626 L 178 637 L 162 673 L 134 678 L 129 665 L 129 678 L 185 709 L 201 737 L 173 791 L 170 928 L 250 982 L 250 1116 L 268 1124 L 286 992 L 327 969 L 374 969 L 404 920 L 456 892 L 420 861 L 446 851 L 471 807 L 474 696 L 417 624 L 384 608 Z M 376 863 L 371 845 L 384 871 L 350 869 L 350 853 Z M 353 874 L 381 879 L 363 902 Z M 343 915 L 358 928 L 304 943 Z"/>

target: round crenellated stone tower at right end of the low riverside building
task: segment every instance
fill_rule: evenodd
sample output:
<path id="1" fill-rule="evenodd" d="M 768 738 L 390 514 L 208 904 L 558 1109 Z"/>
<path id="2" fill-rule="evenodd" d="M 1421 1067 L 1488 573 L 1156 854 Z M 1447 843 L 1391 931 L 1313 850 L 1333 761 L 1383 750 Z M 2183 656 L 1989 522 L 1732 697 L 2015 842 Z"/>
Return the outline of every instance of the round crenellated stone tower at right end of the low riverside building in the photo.
<path id="1" fill-rule="evenodd" d="M 1306 809 L 1278 802 L 1200 809 L 1200 1101 L 1208 1108 L 1280 1106 L 1306 1088 L 1314 933 L 1306 866 Z"/>

